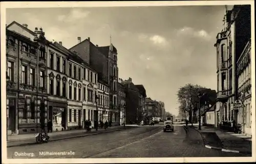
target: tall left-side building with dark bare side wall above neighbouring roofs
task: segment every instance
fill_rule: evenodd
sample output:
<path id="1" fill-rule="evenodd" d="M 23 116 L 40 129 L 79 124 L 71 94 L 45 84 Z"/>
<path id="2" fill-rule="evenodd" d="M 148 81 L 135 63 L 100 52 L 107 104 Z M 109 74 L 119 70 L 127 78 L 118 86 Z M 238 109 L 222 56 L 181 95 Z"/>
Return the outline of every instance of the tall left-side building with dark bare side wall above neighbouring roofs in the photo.
<path id="1" fill-rule="evenodd" d="M 110 46 L 99 47 L 94 45 L 90 38 L 81 42 L 81 38 L 78 37 L 78 44 L 70 48 L 78 52 L 78 56 L 87 62 L 90 67 L 98 72 L 99 80 L 108 81 L 110 86 L 110 120 L 113 125 L 117 124 L 118 120 L 118 67 L 117 67 L 117 49 L 110 44 Z"/>

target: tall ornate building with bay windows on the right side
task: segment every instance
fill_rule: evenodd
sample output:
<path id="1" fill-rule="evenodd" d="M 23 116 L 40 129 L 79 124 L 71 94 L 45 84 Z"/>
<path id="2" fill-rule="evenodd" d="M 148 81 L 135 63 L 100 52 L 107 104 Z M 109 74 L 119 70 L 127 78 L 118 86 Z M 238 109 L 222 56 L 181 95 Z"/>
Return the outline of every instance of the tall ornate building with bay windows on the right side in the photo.
<path id="1" fill-rule="evenodd" d="M 231 122 L 232 120 L 243 123 L 242 108 L 235 107 L 233 103 L 241 99 L 238 89 L 240 73 L 237 65 L 251 37 L 250 15 L 250 5 L 234 5 L 231 10 L 225 6 L 223 30 L 218 33 L 215 44 L 218 80 L 215 126 L 223 121 Z"/>

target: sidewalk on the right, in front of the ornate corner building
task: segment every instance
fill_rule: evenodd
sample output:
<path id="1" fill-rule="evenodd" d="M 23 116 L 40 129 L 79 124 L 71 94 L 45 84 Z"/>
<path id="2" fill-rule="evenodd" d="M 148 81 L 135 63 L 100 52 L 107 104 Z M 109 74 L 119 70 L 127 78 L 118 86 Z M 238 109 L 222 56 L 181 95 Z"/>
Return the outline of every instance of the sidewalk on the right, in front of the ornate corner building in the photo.
<path id="1" fill-rule="evenodd" d="M 198 130 L 198 126 L 195 126 L 195 128 Z M 219 128 L 206 126 L 201 126 L 201 130 L 198 131 L 202 134 L 206 145 L 235 150 L 237 153 L 248 154 L 252 151 L 251 139 L 248 139 L 245 134 L 226 132 Z M 221 144 L 218 143 L 218 140 L 220 140 Z"/>

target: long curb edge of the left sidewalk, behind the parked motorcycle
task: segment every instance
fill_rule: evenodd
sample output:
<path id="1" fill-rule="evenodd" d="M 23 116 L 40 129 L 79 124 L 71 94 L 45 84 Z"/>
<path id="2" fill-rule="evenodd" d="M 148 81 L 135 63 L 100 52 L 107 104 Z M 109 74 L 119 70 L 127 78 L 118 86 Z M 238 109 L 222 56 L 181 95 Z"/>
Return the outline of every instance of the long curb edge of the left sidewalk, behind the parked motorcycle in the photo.
<path id="1" fill-rule="evenodd" d="M 131 127 L 134 128 L 134 127 Z M 125 128 L 126 129 L 126 128 Z M 60 138 L 60 139 L 53 139 L 50 140 L 48 142 L 53 142 L 53 141 L 60 141 L 60 140 L 66 140 L 66 139 L 72 139 L 72 138 L 80 138 L 83 136 L 90 136 L 90 135 L 97 135 L 97 134 L 102 134 L 102 133 L 108 133 L 108 132 L 113 132 L 113 131 L 121 131 L 121 130 L 125 130 L 125 129 L 117 129 L 117 130 L 110 130 L 110 131 L 103 131 L 103 132 L 95 132 L 95 133 L 89 133 L 89 134 L 81 134 L 81 135 L 75 135 L 75 136 L 69 136 L 67 138 Z M 63 135 L 65 136 L 65 135 Z M 36 145 L 38 143 L 33 142 L 33 143 L 24 143 L 24 144 L 17 144 L 17 145 L 9 145 L 7 146 L 7 148 L 11 148 L 11 147 L 20 147 L 20 146 L 25 146 L 25 145 Z"/>

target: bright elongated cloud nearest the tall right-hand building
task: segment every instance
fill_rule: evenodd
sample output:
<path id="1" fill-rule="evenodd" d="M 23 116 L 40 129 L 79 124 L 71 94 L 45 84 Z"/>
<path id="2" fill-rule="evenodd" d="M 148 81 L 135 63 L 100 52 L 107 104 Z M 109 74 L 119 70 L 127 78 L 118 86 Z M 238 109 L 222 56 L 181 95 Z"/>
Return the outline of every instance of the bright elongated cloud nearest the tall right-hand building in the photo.
<path id="1" fill-rule="evenodd" d="M 190 28 L 187 26 L 179 29 L 176 33 L 178 36 L 187 35 L 187 36 L 191 36 L 191 37 L 202 38 L 205 40 L 211 39 L 211 36 L 205 30 L 196 31 L 193 28 Z"/>

